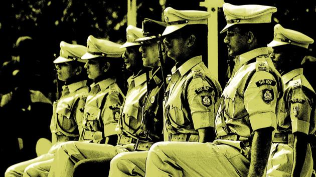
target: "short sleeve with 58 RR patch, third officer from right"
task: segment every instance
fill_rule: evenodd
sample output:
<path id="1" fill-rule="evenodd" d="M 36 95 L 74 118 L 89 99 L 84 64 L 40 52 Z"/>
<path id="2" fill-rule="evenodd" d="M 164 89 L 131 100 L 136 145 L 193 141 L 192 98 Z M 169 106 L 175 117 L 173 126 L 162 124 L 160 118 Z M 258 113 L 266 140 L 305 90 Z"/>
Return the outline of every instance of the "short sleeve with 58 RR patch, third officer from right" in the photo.
<path id="1" fill-rule="evenodd" d="M 187 90 L 189 107 L 195 129 L 214 127 L 215 92 L 205 77 L 193 78 Z"/>

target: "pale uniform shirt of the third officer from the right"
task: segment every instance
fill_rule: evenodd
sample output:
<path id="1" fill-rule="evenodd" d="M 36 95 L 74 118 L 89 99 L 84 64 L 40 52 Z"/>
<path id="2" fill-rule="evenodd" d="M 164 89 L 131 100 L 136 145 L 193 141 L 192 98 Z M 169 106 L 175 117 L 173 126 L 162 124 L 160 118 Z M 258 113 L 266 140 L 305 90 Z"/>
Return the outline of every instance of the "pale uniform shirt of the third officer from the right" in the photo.
<path id="1" fill-rule="evenodd" d="M 198 135 L 197 129 L 214 127 L 215 103 L 222 89 L 202 62 L 202 56 L 195 56 L 178 68 L 174 66 L 168 80 L 164 102 L 167 131 Z"/>

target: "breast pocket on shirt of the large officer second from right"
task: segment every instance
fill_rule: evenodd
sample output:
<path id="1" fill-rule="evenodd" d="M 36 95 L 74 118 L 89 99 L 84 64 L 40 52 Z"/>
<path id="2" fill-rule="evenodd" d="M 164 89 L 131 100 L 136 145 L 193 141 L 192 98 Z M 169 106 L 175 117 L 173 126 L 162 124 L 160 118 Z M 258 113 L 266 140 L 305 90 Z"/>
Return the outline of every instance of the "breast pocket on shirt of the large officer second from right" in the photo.
<path id="1" fill-rule="evenodd" d="M 236 97 L 236 88 L 229 88 L 223 92 L 223 105 L 224 112 L 229 117 L 234 119 L 235 115 L 235 97 Z"/>

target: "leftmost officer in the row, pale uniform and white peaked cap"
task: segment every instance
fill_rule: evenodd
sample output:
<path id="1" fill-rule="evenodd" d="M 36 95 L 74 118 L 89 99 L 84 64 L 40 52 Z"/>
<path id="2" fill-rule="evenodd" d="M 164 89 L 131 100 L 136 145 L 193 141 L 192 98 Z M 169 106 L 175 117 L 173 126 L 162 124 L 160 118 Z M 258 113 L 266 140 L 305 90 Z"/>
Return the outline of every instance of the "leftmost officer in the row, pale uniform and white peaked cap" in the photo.
<path id="1" fill-rule="evenodd" d="M 56 64 L 58 79 L 65 81 L 65 85 L 61 97 L 54 102 L 53 107 L 51 120 L 53 146 L 46 154 L 10 166 L 5 176 L 33 176 L 33 171 L 41 171 L 41 168 L 48 171 L 58 146 L 65 141 L 78 140 L 88 94 L 85 61 L 80 59 L 86 51 L 87 47 L 83 45 L 60 42 L 60 56 L 53 62 Z"/>

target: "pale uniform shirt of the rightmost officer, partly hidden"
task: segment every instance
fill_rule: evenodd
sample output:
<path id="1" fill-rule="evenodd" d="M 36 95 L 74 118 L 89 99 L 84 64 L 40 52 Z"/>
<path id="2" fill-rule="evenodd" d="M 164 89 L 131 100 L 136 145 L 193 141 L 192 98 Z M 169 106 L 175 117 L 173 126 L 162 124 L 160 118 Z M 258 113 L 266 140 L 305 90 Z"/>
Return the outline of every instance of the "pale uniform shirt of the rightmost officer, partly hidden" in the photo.
<path id="1" fill-rule="evenodd" d="M 315 91 L 303 75 L 303 69 L 297 68 L 282 76 L 284 83 L 283 104 L 278 116 L 277 132 L 315 132 L 315 118 L 312 112 Z"/>

